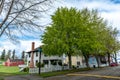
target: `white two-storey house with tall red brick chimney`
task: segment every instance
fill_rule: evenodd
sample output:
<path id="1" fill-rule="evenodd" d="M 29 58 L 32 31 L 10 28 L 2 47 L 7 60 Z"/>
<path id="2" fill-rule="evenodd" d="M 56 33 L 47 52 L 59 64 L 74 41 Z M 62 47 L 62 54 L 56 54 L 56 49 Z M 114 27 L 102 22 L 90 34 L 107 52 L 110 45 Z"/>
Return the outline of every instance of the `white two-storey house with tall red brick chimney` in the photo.
<path id="1" fill-rule="evenodd" d="M 32 50 L 27 53 L 27 66 L 36 67 L 39 62 L 44 63 L 45 67 L 51 67 L 52 65 L 60 65 L 63 62 L 63 56 L 47 56 L 43 52 L 40 52 L 40 47 L 34 48 L 35 43 L 32 43 Z M 41 53 L 41 55 L 40 55 Z M 41 56 L 41 57 L 40 57 Z"/>

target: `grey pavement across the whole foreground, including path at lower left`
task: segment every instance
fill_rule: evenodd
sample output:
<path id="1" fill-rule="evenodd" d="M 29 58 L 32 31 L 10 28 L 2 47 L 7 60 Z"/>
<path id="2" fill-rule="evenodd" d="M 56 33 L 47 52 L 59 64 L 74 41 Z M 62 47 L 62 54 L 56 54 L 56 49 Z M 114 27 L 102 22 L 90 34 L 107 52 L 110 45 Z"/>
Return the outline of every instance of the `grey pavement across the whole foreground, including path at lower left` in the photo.
<path id="1" fill-rule="evenodd" d="M 34 75 L 6 77 L 5 80 L 120 80 L 120 66 L 40 78 Z"/>

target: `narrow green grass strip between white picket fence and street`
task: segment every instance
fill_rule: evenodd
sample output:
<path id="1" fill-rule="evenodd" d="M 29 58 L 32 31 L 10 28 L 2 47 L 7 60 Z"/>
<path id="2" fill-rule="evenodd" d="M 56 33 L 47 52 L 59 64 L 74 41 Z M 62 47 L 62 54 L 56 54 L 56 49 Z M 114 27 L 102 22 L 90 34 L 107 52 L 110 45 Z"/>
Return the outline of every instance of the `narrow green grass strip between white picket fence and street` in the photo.
<path id="1" fill-rule="evenodd" d="M 65 75 L 65 74 L 73 73 L 73 72 L 88 71 L 88 70 L 91 70 L 91 69 L 90 68 L 81 68 L 81 69 L 54 71 L 54 72 L 41 73 L 40 76 L 45 78 L 45 77 L 51 77 L 51 76 Z"/>

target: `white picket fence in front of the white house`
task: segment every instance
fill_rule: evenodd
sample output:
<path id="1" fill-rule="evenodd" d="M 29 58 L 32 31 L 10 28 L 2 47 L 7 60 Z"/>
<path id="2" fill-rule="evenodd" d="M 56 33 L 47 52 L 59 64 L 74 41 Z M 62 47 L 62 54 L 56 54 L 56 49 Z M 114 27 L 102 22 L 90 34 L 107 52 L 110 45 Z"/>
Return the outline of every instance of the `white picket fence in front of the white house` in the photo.
<path id="1" fill-rule="evenodd" d="M 67 70 L 69 69 L 68 66 L 53 66 L 50 68 L 41 68 L 41 73 L 43 72 L 52 72 L 52 71 L 60 71 L 60 70 Z M 29 73 L 38 73 L 39 68 L 30 68 Z"/>

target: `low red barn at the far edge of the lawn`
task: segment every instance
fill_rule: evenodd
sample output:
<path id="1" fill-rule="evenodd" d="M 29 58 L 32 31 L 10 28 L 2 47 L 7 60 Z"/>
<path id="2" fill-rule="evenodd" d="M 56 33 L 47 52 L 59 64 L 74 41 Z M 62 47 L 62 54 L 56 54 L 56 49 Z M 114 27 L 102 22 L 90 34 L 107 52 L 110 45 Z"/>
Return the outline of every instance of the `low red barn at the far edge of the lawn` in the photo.
<path id="1" fill-rule="evenodd" d="M 4 63 L 5 66 L 18 66 L 18 65 L 22 65 L 22 64 L 24 64 L 24 60 L 22 60 L 22 59 L 14 59 L 14 60 L 8 59 Z"/>

